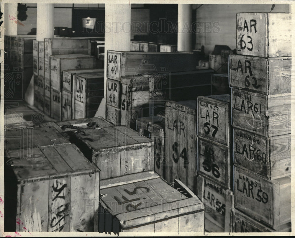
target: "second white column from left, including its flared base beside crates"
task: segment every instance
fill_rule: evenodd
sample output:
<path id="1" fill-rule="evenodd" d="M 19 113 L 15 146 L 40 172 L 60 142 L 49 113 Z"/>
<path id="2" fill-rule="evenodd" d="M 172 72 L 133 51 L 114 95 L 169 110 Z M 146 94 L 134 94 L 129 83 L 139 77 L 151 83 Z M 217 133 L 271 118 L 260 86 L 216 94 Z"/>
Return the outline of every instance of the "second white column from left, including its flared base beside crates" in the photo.
<path id="1" fill-rule="evenodd" d="M 37 41 L 44 41 L 44 38 L 53 38 L 54 35 L 54 4 L 37 3 Z M 34 77 L 32 76 L 30 84 L 24 95 L 25 101 L 34 105 Z"/>

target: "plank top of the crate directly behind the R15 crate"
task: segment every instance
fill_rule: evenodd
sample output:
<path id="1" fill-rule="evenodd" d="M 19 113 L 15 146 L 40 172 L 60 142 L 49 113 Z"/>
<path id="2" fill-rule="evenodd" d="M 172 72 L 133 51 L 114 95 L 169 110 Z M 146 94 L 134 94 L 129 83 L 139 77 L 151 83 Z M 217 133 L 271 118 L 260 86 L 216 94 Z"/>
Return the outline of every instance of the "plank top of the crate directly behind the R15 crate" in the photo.
<path id="1" fill-rule="evenodd" d="M 103 149 L 126 150 L 127 147 L 150 147 L 152 141 L 126 126 L 101 127 L 84 130 L 82 134 L 71 131 L 70 138 L 77 145 L 86 144 L 95 152 Z M 148 145 L 146 145 L 148 143 Z"/>

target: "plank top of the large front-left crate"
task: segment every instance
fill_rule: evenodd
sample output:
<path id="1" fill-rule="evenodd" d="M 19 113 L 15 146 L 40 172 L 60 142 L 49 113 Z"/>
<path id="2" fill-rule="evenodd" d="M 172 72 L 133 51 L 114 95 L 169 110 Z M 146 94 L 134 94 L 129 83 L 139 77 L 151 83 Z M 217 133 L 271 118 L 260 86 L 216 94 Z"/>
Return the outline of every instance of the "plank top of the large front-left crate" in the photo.
<path id="1" fill-rule="evenodd" d="M 14 150 L 7 153 L 19 183 L 76 176 L 99 171 L 74 145 Z"/>

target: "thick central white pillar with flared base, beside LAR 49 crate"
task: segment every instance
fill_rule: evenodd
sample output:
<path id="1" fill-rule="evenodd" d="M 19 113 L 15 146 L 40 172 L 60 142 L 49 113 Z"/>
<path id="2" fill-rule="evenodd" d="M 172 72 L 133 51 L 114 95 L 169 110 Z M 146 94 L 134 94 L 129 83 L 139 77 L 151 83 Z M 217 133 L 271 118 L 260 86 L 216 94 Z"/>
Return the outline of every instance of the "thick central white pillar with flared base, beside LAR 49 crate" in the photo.
<path id="1" fill-rule="evenodd" d="M 105 117 L 107 50 L 130 51 L 130 4 L 105 4 L 104 99 L 95 116 Z"/>

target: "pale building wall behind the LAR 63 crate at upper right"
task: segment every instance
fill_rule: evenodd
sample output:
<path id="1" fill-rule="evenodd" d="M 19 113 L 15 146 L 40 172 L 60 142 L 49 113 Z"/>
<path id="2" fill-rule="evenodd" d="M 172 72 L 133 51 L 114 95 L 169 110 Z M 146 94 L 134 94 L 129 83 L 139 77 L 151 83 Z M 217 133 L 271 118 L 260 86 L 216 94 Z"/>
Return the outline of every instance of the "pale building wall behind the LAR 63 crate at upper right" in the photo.
<path id="1" fill-rule="evenodd" d="M 237 12 L 270 12 L 272 4 L 194 4 L 196 9 L 196 45 L 210 54 L 215 45 L 236 45 Z M 290 4 L 276 4 L 272 12 L 291 12 Z"/>

